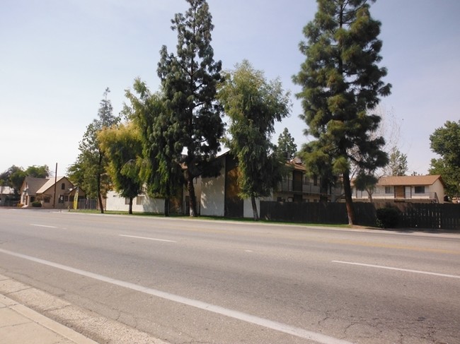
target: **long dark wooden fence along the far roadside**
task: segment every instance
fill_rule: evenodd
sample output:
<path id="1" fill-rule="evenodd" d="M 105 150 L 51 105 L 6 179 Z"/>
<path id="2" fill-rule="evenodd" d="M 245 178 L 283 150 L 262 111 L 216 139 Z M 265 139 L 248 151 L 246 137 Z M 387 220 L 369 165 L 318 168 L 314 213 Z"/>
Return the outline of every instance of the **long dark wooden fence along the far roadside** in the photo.
<path id="1" fill-rule="evenodd" d="M 359 225 L 376 226 L 376 210 L 397 208 L 398 227 L 460 230 L 460 204 L 353 203 Z M 345 203 L 260 202 L 260 218 L 297 223 L 347 224 Z"/>

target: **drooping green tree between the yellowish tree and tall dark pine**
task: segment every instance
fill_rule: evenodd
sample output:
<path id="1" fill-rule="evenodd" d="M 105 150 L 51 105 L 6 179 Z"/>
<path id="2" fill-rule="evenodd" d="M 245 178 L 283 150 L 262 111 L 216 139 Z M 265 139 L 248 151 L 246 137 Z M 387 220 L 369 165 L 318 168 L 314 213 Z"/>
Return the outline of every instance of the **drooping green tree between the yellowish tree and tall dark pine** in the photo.
<path id="1" fill-rule="evenodd" d="M 130 106 L 125 113 L 138 127 L 142 142 L 140 174 L 150 196 L 165 199 L 164 214 L 169 215 L 170 200 L 178 196 L 183 186 L 180 158 L 183 146 L 178 140 L 178 131 L 173 126 L 171 114 L 165 107 L 161 93 L 151 94 L 140 79 L 134 81 L 134 93 L 126 91 Z"/>

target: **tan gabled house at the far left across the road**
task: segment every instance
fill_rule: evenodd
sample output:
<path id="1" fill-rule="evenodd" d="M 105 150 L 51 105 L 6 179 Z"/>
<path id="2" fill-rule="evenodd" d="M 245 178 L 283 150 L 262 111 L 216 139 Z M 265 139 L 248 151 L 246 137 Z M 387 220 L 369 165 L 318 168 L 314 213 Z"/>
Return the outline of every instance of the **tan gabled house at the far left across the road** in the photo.
<path id="1" fill-rule="evenodd" d="M 75 187 L 67 177 L 25 177 L 21 186 L 23 208 L 31 207 L 35 201 L 40 201 L 42 208 L 72 208 L 74 198 L 81 199 L 84 196 L 84 192 Z"/>

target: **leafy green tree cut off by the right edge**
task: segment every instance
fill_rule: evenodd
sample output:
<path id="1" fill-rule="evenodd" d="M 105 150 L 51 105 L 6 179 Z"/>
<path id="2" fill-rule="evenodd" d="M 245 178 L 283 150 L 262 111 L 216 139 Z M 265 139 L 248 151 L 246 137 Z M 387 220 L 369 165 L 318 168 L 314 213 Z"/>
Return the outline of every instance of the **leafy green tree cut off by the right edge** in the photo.
<path id="1" fill-rule="evenodd" d="M 441 174 L 450 198 L 460 194 L 460 121 L 447 121 L 430 135 L 431 150 L 441 156 L 431 160 L 430 174 Z"/>

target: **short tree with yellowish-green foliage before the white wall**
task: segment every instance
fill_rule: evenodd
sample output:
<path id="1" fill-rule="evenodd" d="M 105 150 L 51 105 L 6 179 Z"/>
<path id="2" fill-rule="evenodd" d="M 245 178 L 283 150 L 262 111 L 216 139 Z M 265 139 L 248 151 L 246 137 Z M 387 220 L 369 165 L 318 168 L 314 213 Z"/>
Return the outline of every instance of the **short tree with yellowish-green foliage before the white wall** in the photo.
<path id="1" fill-rule="evenodd" d="M 142 193 L 139 159 L 142 159 L 142 141 L 134 124 L 113 126 L 98 134 L 100 149 L 108 160 L 108 174 L 122 197 L 132 199 Z"/>

